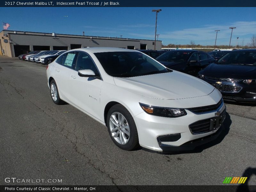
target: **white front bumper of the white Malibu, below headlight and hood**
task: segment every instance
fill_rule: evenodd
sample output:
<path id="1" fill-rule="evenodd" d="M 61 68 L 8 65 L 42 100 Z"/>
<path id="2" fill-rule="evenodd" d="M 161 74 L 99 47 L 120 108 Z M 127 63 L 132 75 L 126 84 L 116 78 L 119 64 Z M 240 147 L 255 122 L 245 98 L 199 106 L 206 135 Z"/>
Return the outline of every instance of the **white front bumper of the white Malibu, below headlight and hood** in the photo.
<path id="1" fill-rule="evenodd" d="M 189 125 L 197 121 L 214 118 L 216 117 L 217 111 L 221 114 L 225 110 L 226 106 L 224 104 L 218 110 L 210 113 L 195 114 L 186 109 L 187 115 L 177 118 L 153 116 L 142 112 L 134 117 L 135 123 L 137 127 L 139 127 L 138 135 L 140 146 L 158 152 L 193 150 L 198 145 L 216 139 L 218 135 L 215 133 L 220 132 L 219 130 L 222 123 L 215 129 L 201 134 L 193 134 Z M 161 136 L 174 135 L 174 137 L 176 137 L 176 134 L 180 134 L 180 138 L 179 136 L 177 138 L 178 140 L 174 139 L 174 141 L 159 142 L 159 137 Z M 206 139 L 206 137 L 213 134 L 217 136 Z M 200 140 L 202 138 L 205 139 Z M 191 143 L 191 141 L 197 139 L 200 141 L 193 142 L 193 144 Z"/>

